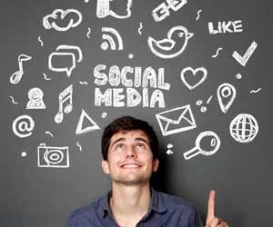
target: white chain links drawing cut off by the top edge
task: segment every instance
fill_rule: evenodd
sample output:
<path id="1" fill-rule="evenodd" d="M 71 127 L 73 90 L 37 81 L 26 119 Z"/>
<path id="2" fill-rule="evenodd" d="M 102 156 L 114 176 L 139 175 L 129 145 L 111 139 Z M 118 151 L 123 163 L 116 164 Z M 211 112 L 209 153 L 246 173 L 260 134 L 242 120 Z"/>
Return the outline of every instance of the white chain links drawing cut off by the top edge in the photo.
<path id="1" fill-rule="evenodd" d="M 187 4 L 187 0 L 166 0 L 166 3 L 162 3 L 157 6 L 152 12 L 155 21 L 163 21 L 170 15 L 170 9 L 177 11 L 182 6 Z"/>

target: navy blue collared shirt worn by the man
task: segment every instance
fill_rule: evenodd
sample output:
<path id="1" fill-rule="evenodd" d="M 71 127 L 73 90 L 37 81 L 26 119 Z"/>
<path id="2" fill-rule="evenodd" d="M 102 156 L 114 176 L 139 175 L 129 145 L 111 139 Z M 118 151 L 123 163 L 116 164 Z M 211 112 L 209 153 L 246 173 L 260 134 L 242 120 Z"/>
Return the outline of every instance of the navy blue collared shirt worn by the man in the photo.
<path id="1" fill-rule="evenodd" d="M 66 227 L 116 227 L 109 206 L 111 192 L 96 202 L 77 209 Z M 182 198 L 152 190 L 147 214 L 136 227 L 204 227 L 196 209 Z"/>

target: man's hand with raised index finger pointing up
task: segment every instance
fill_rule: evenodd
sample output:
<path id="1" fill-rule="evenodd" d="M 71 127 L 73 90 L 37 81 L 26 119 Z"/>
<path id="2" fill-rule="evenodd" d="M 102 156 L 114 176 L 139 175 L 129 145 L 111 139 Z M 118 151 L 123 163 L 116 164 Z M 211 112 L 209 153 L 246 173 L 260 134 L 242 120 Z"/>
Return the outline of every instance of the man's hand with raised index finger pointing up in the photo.
<path id="1" fill-rule="evenodd" d="M 215 213 L 215 191 L 211 190 L 209 192 L 208 202 L 207 202 L 207 221 L 205 227 L 228 227 L 227 222 L 222 219 L 217 218 Z"/>

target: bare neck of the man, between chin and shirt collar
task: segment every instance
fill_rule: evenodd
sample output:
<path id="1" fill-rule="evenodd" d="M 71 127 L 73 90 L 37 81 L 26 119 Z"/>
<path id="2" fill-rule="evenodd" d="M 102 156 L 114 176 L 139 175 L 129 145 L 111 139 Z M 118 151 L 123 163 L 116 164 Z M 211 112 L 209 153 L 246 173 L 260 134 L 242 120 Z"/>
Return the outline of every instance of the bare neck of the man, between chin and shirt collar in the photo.
<path id="1" fill-rule="evenodd" d="M 150 185 L 112 185 L 113 195 L 110 206 L 116 220 L 131 218 L 140 220 L 151 201 Z"/>

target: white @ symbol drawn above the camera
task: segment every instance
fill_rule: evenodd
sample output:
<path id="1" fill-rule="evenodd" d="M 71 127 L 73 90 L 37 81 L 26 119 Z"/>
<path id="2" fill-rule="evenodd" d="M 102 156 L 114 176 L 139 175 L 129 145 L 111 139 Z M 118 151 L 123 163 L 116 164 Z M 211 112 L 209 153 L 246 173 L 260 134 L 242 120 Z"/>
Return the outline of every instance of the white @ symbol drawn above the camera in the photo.
<path id="1" fill-rule="evenodd" d="M 25 138 L 32 135 L 34 127 L 35 122 L 29 115 L 18 116 L 13 122 L 13 131 L 15 135 L 20 138 Z"/>

